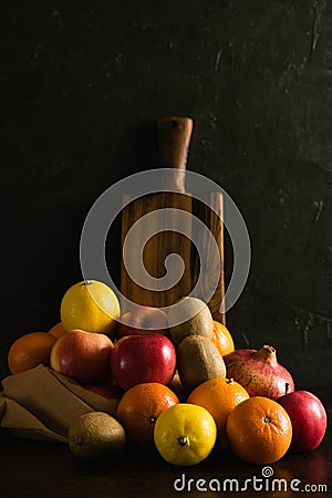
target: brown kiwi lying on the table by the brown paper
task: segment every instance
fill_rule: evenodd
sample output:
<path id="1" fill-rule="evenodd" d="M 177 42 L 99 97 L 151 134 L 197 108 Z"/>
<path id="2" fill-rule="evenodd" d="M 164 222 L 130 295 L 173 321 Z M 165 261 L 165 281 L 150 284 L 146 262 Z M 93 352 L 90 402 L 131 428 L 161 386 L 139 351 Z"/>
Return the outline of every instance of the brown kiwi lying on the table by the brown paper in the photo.
<path id="1" fill-rule="evenodd" d="M 71 452 L 84 460 L 114 457 L 125 449 L 123 426 L 104 412 L 90 412 L 74 418 L 68 439 Z"/>

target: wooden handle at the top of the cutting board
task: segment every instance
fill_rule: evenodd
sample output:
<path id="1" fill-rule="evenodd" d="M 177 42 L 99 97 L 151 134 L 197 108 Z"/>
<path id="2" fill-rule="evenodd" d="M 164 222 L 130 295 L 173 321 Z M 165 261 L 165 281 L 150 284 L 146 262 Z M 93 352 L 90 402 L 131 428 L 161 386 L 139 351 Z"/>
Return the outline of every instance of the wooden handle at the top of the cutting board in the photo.
<path id="1" fill-rule="evenodd" d="M 163 168 L 174 168 L 169 187 L 185 193 L 185 174 L 193 132 L 190 117 L 160 117 L 158 121 L 159 162 Z"/>

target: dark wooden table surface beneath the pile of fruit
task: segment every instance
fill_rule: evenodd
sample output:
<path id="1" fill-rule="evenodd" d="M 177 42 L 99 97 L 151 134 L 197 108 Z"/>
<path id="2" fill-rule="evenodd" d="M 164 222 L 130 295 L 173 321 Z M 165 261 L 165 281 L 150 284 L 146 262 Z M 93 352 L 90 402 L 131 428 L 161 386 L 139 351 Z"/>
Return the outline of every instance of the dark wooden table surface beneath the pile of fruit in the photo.
<path id="1" fill-rule="evenodd" d="M 320 398 L 331 421 L 331 392 L 320 393 Z M 212 454 L 195 467 L 175 467 L 155 453 L 141 450 L 91 464 L 79 460 L 66 444 L 18 439 L 0 430 L 0 496 L 210 497 L 221 495 L 218 486 L 226 496 L 234 495 L 237 486 L 238 495 L 243 496 L 332 496 L 331 439 L 330 423 L 314 452 L 288 454 L 270 466 L 249 465 L 231 454 Z"/>

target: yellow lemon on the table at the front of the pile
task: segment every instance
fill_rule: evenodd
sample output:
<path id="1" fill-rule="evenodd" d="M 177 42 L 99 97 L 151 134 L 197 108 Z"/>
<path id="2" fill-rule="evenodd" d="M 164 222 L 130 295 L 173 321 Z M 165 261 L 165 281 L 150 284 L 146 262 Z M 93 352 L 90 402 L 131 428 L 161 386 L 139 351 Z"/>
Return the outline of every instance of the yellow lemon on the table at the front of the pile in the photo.
<path id="1" fill-rule="evenodd" d="M 157 450 L 173 465 L 199 464 L 211 453 L 216 438 L 212 416 L 201 406 L 189 403 L 178 403 L 165 409 L 154 429 Z"/>

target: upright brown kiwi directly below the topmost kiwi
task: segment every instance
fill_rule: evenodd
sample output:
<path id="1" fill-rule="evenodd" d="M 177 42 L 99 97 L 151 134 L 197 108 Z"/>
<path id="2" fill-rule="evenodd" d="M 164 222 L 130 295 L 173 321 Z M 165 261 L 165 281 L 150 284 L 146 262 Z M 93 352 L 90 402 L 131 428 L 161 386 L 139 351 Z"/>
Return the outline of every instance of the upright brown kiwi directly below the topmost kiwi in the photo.
<path id="1" fill-rule="evenodd" d="M 177 367 L 185 390 L 195 387 L 210 378 L 225 378 L 226 366 L 216 344 L 201 335 L 190 335 L 177 347 Z"/>

